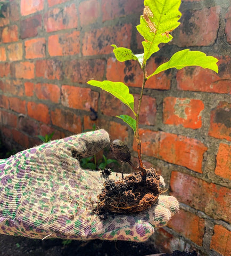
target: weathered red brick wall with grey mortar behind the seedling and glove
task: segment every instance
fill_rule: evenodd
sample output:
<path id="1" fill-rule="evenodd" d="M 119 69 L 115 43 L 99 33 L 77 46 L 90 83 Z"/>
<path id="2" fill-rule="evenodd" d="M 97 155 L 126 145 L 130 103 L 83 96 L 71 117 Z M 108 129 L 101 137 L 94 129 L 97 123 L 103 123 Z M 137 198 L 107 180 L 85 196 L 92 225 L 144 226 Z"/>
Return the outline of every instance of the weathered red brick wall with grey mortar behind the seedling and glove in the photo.
<path id="1" fill-rule="evenodd" d="M 217 3 L 217 4 L 216 4 Z M 117 62 L 111 44 L 142 52 L 135 26 L 142 0 L 10 0 L 0 18 L 0 124 L 8 145 L 28 148 L 36 135 L 55 138 L 108 130 L 128 143 L 133 135 L 114 115 L 129 110 L 90 87 L 90 78 L 125 82 L 137 102 L 142 72 Z M 150 72 L 189 47 L 219 59 L 219 73 L 191 67 L 152 77 L 144 91 L 141 138 L 146 166 L 161 170 L 180 212 L 152 240 L 161 251 L 196 249 L 230 255 L 231 7 L 224 1 L 183 1 L 183 25 L 149 61 Z M 90 108 L 98 113 L 92 121 Z"/>

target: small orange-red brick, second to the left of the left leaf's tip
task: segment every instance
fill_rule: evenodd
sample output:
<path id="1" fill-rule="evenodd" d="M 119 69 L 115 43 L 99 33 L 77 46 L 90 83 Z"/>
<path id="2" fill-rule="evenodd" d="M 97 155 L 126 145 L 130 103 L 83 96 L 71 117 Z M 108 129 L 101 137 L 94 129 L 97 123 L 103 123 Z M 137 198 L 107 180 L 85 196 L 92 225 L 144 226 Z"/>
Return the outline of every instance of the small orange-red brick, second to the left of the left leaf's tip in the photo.
<path id="1" fill-rule="evenodd" d="M 59 103 L 61 98 L 60 91 L 60 87 L 55 84 L 38 83 L 35 85 L 35 94 L 41 100 Z"/>

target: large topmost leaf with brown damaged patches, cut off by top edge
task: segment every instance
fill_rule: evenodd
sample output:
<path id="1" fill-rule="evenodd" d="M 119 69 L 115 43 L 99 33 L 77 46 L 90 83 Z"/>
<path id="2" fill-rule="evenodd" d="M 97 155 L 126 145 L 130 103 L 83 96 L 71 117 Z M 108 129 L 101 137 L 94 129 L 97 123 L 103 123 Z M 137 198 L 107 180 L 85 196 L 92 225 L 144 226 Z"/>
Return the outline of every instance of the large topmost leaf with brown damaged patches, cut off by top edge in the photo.
<path id="1" fill-rule="evenodd" d="M 136 28 L 144 37 L 144 63 L 151 55 L 159 51 L 160 43 L 168 43 L 172 36 L 169 34 L 179 26 L 180 0 L 145 0 L 144 13 L 141 23 Z"/>

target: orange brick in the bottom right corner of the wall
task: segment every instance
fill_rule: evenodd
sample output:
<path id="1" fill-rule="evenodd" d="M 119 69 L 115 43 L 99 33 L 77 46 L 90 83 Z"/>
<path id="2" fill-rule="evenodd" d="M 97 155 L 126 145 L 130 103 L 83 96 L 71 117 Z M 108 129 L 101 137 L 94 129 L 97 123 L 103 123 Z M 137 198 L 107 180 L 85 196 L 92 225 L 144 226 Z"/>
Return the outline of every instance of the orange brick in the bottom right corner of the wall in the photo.
<path id="1" fill-rule="evenodd" d="M 231 231 L 220 225 L 215 225 L 210 249 L 224 256 L 231 255 Z"/>

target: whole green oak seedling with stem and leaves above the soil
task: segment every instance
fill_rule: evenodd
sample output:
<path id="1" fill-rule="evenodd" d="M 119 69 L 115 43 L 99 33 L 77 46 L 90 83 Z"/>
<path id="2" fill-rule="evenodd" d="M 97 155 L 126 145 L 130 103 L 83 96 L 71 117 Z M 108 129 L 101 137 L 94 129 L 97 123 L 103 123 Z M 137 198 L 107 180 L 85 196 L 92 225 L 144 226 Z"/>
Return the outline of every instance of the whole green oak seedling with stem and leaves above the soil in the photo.
<path id="1" fill-rule="evenodd" d="M 144 37 L 142 42 L 144 53 L 134 54 L 130 49 L 124 47 L 114 48 L 113 52 L 118 61 L 135 60 L 139 62 L 139 65 L 143 71 L 143 83 L 141 85 L 141 93 L 138 100 L 138 108 L 134 110 L 134 97 L 129 93 L 129 88 L 122 82 L 111 81 L 95 81 L 91 80 L 88 84 L 100 87 L 101 89 L 111 93 L 114 97 L 118 98 L 122 103 L 128 106 L 133 112 L 134 117 L 128 115 L 117 116 L 121 118 L 123 122 L 127 123 L 134 131 L 134 137 L 137 142 L 138 152 L 138 169 L 142 172 L 142 177 L 146 177 L 146 170 L 142 161 L 141 140 L 139 138 L 139 113 L 141 111 L 141 102 L 144 93 L 144 87 L 147 80 L 152 76 L 159 74 L 161 71 L 169 68 L 182 69 L 188 66 L 200 66 L 202 68 L 208 68 L 218 73 L 217 61 L 218 59 L 207 56 L 200 51 L 190 51 L 185 49 L 176 52 L 172 55 L 170 60 L 160 65 L 152 74 L 146 73 L 146 62 L 149 60 L 153 53 L 160 50 L 160 43 L 168 43 L 171 41 L 171 31 L 179 26 L 178 20 L 182 13 L 179 12 L 180 0 L 145 0 L 144 11 L 141 15 L 140 24 L 136 27 L 138 32 Z"/>

